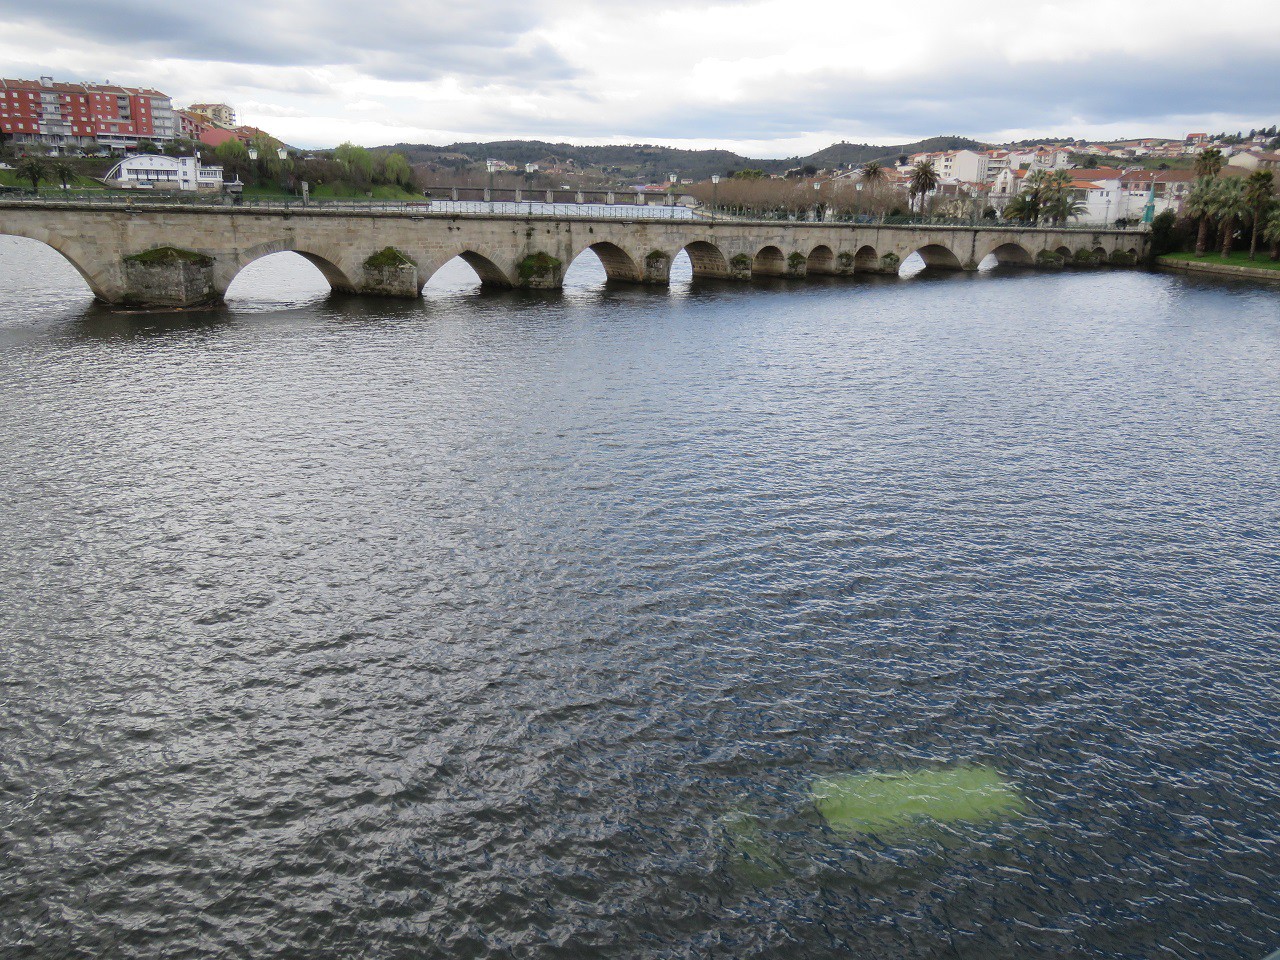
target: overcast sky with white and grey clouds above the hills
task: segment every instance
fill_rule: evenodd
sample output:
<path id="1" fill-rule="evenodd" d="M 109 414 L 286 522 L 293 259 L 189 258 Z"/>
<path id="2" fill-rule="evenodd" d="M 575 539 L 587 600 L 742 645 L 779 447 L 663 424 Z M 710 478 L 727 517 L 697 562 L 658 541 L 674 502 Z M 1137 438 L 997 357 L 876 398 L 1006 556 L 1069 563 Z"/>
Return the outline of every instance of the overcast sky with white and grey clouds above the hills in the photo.
<path id="1" fill-rule="evenodd" d="M 0 0 L 0 73 L 225 101 L 300 146 L 1180 137 L 1280 122 L 1280 3 Z"/>

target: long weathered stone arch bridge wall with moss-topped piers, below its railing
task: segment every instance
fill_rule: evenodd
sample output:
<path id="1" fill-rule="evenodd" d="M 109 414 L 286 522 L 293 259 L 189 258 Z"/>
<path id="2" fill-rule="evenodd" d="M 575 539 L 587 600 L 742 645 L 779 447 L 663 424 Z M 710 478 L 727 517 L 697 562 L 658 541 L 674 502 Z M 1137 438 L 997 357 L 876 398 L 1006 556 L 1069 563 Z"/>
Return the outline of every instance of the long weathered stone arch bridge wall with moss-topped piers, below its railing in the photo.
<path id="1" fill-rule="evenodd" d="M 219 301 L 255 260 L 293 251 L 335 291 L 417 297 L 462 257 L 494 287 L 558 288 L 585 250 L 611 280 L 666 284 L 685 251 L 698 278 L 897 273 L 911 253 L 925 265 L 977 270 L 987 255 L 1024 266 L 1137 262 L 1148 234 L 1116 228 L 1018 228 L 660 220 L 625 215 L 439 214 L 424 206 L 352 210 L 0 201 L 0 234 L 58 250 L 95 296 L 122 306 L 188 307 Z"/>

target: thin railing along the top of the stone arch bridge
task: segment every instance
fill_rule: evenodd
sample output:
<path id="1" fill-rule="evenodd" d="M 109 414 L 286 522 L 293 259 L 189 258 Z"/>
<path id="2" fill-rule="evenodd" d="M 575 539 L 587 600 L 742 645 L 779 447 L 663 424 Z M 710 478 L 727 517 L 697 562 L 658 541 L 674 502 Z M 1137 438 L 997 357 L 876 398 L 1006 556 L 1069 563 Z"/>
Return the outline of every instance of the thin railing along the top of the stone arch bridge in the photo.
<path id="1" fill-rule="evenodd" d="M 301 197 L 244 197 L 229 200 L 221 196 L 193 196 L 182 197 L 174 195 L 148 195 L 143 192 L 108 193 L 104 191 L 76 193 L 51 192 L 40 196 L 33 195 L 5 195 L 0 196 L 0 206 L 31 205 L 42 207 L 61 206 L 104 206 L 115 209 L 129 207 L 191 207 L 206 210 L 237 210 L 250 209 L 262 212 L 351 212 L 351 214 L 398 214 L 401 216 L 527 216 L 531 219 L 608 219 L 608 220 L 717 220 L 740 224 L 751 223 L 809 223 L 841 227 L 951 227 L 966 229 L 998 229 L 998 230 L 1119 230 L 1124 233 L 1146 233 L 1147 224 L 1097 223 L 1071 220 L 1066 224 L 1028 224 L 1016 220 L 991 220 L 977 218 L 954 216 L 872 216 L 863 215 L 835 215 L 828 214 L 823 219 L 814 219 L 812 211 L 800 215 L 788 211 L 728 211 L 709 210 L 707 207 L 685 206 L 637 206 L 635 204 L 547 204 L 543 201 L 507 201 L 507 200 L 306 200 Z"/>

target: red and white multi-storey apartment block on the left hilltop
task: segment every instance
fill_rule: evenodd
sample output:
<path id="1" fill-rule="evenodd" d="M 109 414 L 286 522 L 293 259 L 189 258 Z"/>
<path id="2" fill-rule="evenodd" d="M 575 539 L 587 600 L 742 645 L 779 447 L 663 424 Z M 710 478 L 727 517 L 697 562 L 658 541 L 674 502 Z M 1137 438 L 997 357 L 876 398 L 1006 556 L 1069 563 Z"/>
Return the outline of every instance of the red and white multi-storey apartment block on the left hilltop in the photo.
<path id="1" fill-rule="evenodd" d="M 132 147 L 178 136 L 169 97 L 110 83 L 0 79 L 0 129 L 15 143 Z"/>

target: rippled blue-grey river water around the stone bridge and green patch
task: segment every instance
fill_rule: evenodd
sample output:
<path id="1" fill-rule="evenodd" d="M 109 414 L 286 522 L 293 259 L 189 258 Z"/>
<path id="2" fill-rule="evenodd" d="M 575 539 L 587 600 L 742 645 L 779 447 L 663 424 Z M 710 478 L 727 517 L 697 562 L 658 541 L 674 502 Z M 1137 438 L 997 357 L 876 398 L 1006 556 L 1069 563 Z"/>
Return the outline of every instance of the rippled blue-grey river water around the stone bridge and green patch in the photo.
<path id="1" fill-rule="evenodd" d="M 147 316 L 0 238 L 0 954 L 1280 947 L 1280 293 L 590 257 Z"/>

